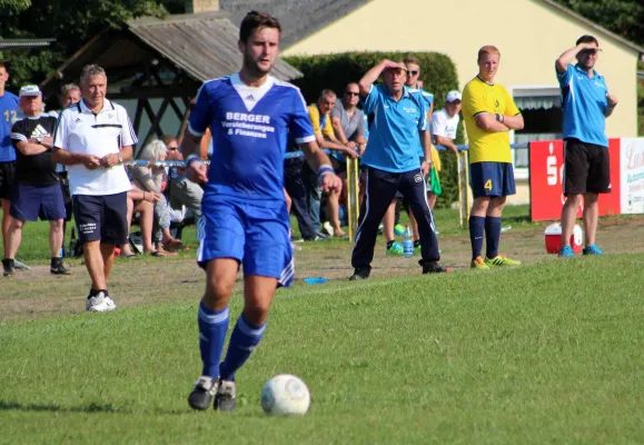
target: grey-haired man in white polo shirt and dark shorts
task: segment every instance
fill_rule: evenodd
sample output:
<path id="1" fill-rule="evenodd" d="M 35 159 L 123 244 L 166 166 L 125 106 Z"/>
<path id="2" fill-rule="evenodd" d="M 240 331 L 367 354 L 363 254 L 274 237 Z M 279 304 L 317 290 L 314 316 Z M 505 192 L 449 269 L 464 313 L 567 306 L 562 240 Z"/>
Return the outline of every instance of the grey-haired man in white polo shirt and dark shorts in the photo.
<path id="1" fill-rule="evenodd" d="M 107 289 L 115 247 L 128 237 L 130 180 L 123 162 L 132 157 L 137 136 L 123 107 L 106 98 L 107 75 L 98 65 L 80 76 L 82 99 L 60 113 L 53 158 L 68 166 L 73 219 L 91 278 L 88 312 L 116 309 Z"/>

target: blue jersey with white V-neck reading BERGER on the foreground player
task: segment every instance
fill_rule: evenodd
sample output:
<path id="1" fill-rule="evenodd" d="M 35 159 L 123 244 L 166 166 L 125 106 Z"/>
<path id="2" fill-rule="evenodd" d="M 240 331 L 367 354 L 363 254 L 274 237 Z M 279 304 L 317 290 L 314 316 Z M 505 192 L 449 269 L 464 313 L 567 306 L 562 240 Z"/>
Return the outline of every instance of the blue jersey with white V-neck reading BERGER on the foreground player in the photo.
<path id="1" fill-rule="evenodd" d="M 238 73 L 206 81 L 189 129 L 199 136 L 208 127 L 212 158 L 205 191 L 266 207 L 285 200 L 288 134 L 297 144 L 316 140 L 299 89 L 273 77 L 258 88 L 246 86 Z"/>

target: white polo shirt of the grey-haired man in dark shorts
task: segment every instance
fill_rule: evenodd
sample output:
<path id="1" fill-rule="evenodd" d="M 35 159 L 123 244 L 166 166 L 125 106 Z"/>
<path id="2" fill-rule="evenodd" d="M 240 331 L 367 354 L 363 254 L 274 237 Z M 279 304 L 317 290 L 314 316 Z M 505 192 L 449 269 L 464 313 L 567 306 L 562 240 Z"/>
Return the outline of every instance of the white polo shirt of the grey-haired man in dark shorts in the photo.
<path id="1" fill-rule="evenodd" d="M 102 110 L 95 115 L 85 100 L 61 111 L 53 146 L 72 154 L 99 158 L 118 154 L 121 147 L 137 144 L 137 135 L 123 107 L 105 99 Z M 71 195 L 116 195 L 132 186 L 122 164 L 89 170 L 82 164 L 68 166 Z"/>

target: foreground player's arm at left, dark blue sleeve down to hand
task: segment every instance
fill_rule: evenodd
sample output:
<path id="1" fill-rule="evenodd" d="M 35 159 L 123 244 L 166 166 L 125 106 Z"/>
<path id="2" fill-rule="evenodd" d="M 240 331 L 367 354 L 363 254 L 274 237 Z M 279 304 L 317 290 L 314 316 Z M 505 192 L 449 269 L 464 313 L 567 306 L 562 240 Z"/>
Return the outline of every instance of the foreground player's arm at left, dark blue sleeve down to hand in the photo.
<path id="1" fill-rule="evenodd" d="M 195 107 L 190 112 L 188 130 L 181 139 L 179 151 L 186 159 L 186 176 L 194 182 L 204 184 L 208 181 L 207 166 L 201 161 L 199 144 L 206 129 L 212 121 L 212 110 L 210 109 L 210 98 L 207 85 L 204 83 L 197 92 Z"/>

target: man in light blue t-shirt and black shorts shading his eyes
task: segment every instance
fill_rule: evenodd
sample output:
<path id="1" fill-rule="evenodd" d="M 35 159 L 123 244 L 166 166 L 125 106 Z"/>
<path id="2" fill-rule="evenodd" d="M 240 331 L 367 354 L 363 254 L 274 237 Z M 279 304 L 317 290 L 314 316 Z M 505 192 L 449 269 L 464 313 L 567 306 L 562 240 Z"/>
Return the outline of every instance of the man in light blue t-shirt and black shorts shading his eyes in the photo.
<path id="1" fill-rule="evenodd" d="M 600 43 L 593 36 L 582 36 L 555 62 L 564 107 L 564 195 L 562 208 L 561 257 L 574 257 L 571 235 L 577 208 L 584 199 L 584 255 L 602 255 L 595 244 L 598 194 L 611 192 L 611 162 L 606 118 L 617 98 L 608 93 L 604 77 L 595 71 Z M 576 65 L 572 65 L 573 59 Z"/>

